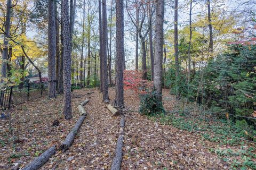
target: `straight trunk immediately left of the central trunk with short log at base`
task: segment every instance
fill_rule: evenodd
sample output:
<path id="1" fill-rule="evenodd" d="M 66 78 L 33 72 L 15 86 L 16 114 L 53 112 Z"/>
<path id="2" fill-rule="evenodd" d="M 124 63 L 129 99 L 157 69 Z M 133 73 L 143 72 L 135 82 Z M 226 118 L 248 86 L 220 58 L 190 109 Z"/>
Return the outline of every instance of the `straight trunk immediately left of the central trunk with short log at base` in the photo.
<path id="1" fill-rule="evenodd" d="M 108 103 L 108 68 L 107 68 L 107 4 L 102 0 L 102 74 L 103 74 L 103 102 Z"/>

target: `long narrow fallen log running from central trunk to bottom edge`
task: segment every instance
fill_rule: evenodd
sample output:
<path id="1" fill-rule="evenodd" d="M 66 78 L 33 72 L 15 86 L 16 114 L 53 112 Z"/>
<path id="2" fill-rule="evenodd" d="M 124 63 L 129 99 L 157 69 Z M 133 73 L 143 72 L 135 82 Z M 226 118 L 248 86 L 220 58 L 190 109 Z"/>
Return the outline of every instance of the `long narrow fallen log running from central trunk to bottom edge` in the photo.
<path id="1" fill-rule="evenodd" d="M 111 170 L 120 170 L 123 160 L 123 145 L 124 145 L 124 115 L 121 116 L 119 135 L 116 142 L 115 156 L 111 164 Z"/>

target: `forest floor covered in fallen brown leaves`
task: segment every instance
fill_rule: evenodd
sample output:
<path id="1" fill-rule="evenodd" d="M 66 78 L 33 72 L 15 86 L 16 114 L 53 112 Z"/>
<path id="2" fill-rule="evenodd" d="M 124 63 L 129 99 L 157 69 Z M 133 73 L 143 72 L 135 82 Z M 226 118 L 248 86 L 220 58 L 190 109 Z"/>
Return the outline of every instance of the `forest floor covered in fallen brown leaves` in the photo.
<path id="1" fill-rule="evenodd" d="M 113 102 L 114 88 L 109 88 L 109 96 Z M 56 99 L 45 96 L 6 111 L 10 118 L 0 119 L 0 169 L 22 168 L 52 145 L 58 148 L 79 117 L 77 105 L 86 98 L 90 100 L 84 106 L 87 116 L 73 145 L 64 153 L 57 151 L 41 169 L 109 169 L 119 117 L 111 115 L 98 89 L 74 90 L 72 97 L 71 121 L 62 115 L 61 95 Z M 163 99 L 168 111 L 181 105 L 169 90 L 163 91 Z M 125 105 L 129 111 L 125 116 L 122 169 L 253 169 L 253 165 L 241 165 L 255 163 L 253 144 L 220 145 L 219 141 L 207 140 L 204 133 L 190 133 L 166 124 L 163 118 L 141 115 L 139 97 L 130 90 L 125 91 Z M 59 126 L 52 126 L 54 120 L 60 122 Z"/>

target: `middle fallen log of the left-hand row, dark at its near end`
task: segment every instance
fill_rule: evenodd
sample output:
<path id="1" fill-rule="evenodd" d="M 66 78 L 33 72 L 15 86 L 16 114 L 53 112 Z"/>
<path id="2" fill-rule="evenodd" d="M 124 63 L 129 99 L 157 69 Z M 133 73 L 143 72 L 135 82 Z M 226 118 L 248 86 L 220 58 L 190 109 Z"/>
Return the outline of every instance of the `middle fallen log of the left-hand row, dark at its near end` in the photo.
<path id="1" fill-rule="evenodd" d="M 66 151 L 72 145 L 79 128 L 81 127 L 81 125 L 84 122 L 85 116 L 86 115 L 83 114 L 79 117 L 74 128 L 71 129 L 71 131 L 68 133 L 66 139 L 61 143 L 60 148 L 59 148 L 60 150 Z"/>

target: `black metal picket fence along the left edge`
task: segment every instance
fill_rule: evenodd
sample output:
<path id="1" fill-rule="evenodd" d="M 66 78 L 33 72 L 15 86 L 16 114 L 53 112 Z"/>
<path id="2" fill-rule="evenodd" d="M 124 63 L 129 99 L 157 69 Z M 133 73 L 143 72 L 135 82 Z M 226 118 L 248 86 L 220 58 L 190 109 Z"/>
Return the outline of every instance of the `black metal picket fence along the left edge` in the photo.
<path id="1" fill-rule="evenodd" d="M 43 83 L 24 83 L 0 89 L 0 107 L 6 109 L 42 97 L 46 87 Z"/>

